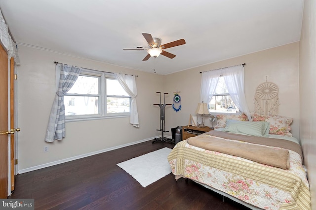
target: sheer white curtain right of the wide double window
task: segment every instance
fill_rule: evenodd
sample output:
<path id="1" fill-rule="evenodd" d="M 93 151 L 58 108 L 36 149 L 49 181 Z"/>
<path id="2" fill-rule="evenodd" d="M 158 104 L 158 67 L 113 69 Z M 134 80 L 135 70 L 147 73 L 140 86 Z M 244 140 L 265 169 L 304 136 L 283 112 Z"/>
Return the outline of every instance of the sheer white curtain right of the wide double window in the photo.
<path id="1" fill-rule="evenodd" d="M 133 124 L 134 127 L 139 127 L 138 111 L 137 111 L 137 104 L 136 104 L 137 87 L 136 87 L 135 76 L 118 74 L 118 73 L 114 73 L 114 75 L 117 78 L 119 84 L 121 84 L 123 89 L 132 98 L 132 101 L 130 104 L 129 123 Z"/>

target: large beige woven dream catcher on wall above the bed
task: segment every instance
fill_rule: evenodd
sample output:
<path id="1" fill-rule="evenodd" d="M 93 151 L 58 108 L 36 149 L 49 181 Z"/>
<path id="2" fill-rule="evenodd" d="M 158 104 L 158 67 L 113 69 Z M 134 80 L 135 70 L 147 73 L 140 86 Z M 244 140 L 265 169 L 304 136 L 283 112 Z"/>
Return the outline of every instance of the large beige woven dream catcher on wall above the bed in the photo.
<path id="1" fill-rule="evenodd" d="M 271 82 L 261 83 L 255 94 L 255 111 L 263 115 L 278 114 L 278 87 Z"/>

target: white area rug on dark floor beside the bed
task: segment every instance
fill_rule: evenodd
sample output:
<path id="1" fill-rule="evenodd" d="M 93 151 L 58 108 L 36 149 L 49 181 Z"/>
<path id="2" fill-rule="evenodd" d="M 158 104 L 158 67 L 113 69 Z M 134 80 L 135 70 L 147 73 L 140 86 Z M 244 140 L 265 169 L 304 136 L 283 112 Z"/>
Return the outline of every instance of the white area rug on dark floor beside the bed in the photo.
<path id="1" fill-rule="evenodd" d="M 139 157 L 118 163 L 117 165 L 137 180 L 143 187 L 171 173 L 167 160 L 170 148 L 162 148 Z"/>

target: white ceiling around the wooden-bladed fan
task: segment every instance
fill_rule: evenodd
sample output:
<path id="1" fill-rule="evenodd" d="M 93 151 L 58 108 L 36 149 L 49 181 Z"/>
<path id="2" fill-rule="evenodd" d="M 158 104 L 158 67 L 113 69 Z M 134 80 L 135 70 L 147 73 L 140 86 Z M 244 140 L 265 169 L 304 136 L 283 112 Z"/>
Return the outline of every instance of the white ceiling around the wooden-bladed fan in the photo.
<path id="1" fill-rule="evenodd" d="M 300 40 L 304 0 L 0 0 L 18 44 L 170 74 Z M 142 32 L 168 48 L 142 61 Z M 58 61 L 58 60 L 57 60 Z M 23 63 L 22 63 L 23 64 Z M 71 63 L 69 63 L 71 64 Z M 239 64 L 239 63 L 237 63 Z"/>

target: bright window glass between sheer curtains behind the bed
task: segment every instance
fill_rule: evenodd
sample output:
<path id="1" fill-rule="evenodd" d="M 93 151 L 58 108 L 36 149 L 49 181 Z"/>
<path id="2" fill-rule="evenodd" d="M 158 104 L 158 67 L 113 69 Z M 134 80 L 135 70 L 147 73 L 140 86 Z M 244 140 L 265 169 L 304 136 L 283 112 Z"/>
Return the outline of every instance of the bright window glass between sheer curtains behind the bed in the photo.
<path id="1" fill-rule="evenodd" d="M 211 113 L 238 113 L 239 110 L 236 107 L 233 99 L 231 98 L 223 76 L 220 76 L 215 94 L 211 98 L 209 103 L 209 111 Z"/>

